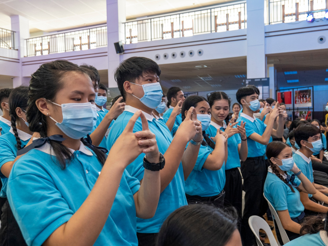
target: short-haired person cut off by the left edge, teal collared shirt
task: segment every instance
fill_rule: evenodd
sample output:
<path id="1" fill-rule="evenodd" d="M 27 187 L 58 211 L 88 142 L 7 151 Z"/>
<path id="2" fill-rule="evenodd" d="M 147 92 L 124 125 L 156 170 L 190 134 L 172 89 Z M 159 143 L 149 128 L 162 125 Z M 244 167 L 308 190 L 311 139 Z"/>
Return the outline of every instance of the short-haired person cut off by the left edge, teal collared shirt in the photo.
<path id="1" fill-rule="evenodd" d="M 7 133 L 11 127 L 8 105 L 9 94 L 11 91 L 12 89 L 9 88 L 0 90 L 0 109 L 2 111 L 2 115 L 0 116 L 0 127 L 2 128 L 2 131 L 0 132 L 0 135 Z"/>

